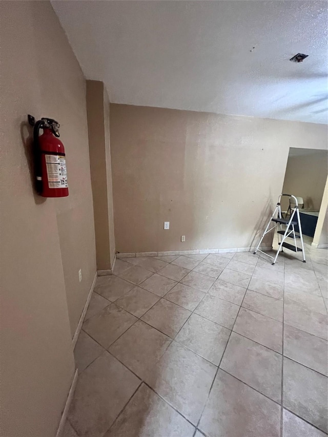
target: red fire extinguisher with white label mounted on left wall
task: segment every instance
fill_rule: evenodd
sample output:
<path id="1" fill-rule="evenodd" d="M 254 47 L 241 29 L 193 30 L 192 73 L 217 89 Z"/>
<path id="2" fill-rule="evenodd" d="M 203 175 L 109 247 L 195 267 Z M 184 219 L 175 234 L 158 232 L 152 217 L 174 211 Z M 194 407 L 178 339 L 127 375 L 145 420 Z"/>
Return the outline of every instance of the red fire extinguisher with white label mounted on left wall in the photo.
<path id="1" fill-rule="evenodd" d="M 52 118 L 34 120 L 28 116 L 34 126 L 34 159 L 36 190 L 43 197 L 68 196 L 66 156 L 64 144 L 59 138 L 59 123 Z M 43 134 L 39 135 L 40 129 Z"/>

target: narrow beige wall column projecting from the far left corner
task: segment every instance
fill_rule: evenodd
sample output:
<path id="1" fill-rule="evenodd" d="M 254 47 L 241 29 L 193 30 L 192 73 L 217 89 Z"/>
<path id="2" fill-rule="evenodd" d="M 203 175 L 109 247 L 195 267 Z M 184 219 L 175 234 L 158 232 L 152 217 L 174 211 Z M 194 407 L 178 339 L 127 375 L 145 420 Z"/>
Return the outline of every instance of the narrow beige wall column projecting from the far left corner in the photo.
<path id="1" fill-rule="evenodd" d="M 103 82 L 87 80 L 91 181 L 97 269 L 112 268 L 115 257 L 109 100 Z"/>

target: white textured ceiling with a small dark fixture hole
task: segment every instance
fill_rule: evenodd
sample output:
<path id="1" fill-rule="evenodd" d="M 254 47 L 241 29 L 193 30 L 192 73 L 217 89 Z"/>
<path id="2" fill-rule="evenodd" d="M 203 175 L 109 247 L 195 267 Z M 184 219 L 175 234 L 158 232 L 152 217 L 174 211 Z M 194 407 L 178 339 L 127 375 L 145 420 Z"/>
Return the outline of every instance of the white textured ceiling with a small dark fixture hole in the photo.
<path id="1" fill-rule="evenodd" d="M 327 122 L 324 1 L 52 1 L 115 103 Z M 296 53 L 309 57 L 296 64 Z"/>

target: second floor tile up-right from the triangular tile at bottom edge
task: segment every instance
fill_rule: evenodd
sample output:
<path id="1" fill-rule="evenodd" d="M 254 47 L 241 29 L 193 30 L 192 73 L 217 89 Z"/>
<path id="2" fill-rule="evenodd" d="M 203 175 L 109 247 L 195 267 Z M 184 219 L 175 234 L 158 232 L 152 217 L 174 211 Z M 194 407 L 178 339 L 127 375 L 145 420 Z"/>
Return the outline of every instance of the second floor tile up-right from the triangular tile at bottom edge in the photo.
<path id="1" fill-rule="evenodd" d="M 223 326 L 192 314 L 175 340 L 218 366 L 230 332 Z"/>

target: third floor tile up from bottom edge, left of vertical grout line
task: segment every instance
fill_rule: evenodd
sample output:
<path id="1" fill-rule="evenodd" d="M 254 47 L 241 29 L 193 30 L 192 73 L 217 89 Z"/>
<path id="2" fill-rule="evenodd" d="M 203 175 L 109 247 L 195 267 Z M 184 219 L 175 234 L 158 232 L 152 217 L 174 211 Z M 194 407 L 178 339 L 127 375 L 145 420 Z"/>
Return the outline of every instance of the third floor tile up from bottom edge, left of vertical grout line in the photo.
<path id="1" fill-rule="evenodd" d="M 277 320 L 240 308 L 233 330 L 276 352 L 282 352 L 282 323 Z"/>

